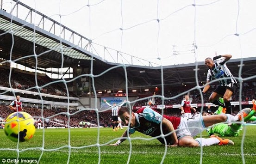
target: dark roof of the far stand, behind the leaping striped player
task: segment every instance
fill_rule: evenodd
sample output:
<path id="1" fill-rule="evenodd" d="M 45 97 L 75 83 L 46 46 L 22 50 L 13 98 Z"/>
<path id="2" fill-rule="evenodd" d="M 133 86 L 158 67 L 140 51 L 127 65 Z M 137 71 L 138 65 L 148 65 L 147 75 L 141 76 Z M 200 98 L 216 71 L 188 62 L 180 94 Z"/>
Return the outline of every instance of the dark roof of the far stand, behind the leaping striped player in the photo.
<path id="1" fill-rule="evenodd" d="M 227 62 L 227 66 L 231 70 L 231 73 L 235 77 L 239 77 L 239 69 L 241 65 L 240 59 L 231 59 Z M 243 67 L 241 70 L 242 78 L 253 77 L 256 80 L 256 57 L 244 58 Z M 114 64 L 114 63 L 112 63 Z M 163 83 L 165 86 L 182 86 L 184 85 L 196 85 L 196 74 L 195 68 L 196 63 L 181 64 L 173 66 L 163 66 Z M 97 71 L 103 72 L 104 68 L 97 68 Z M 128 86 L 134 86 L 132 83 L 137 81 L 141 86 L 160 86 L 161 81 L 161 67 L 141 67 L 131 66 L 127 67 Z M 119 73 L 120 76 L 124 75 L 124 69 L 118 68 L 115 72 Z M 206 83 L 206 74 L 208 68 L 204 62 L 198 62 L 198 81 L 199 83 Z M 95 70 L 96 71 L 96 70 Z M 132 79 L 132 82 L 129 81 Z"/>

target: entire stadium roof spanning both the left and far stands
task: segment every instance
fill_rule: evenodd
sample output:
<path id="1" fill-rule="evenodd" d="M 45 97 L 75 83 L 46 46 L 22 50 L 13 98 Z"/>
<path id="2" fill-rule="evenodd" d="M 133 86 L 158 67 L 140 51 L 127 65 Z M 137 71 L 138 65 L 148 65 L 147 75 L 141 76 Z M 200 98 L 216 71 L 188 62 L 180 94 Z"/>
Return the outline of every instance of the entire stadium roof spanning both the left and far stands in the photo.
<path id="1" fill-rule="evenodd" d="M 10 23 L 12 22 L 12 24 Z M 10 29 L 12 28 L 13 39 Z M 36 33 L 34 33 L 34 29 Z M 27 23 L 11 14 L 0 10 L 0 57 L 6 60 L 12 56 L 12 61 L 27 67 L 48 68 L 61 67 L 63 50 L 63 67 L 73 67 L 80 61 L 81 66 L 90 66 L 91 55 L 85 49 L 75 46 L 66 40 L 60 40 L 60 37 L 42 30 L 37 26 Z M 37 61 L 34 56 L 34 41 Z M 62 48 L 60 47 L 62 43 Z M 12 45 L 12 43 L 14 43 Z M 13 48 L 12 48 L 13 46 Z M 12 50 L 12 51 L 11 51 Z M 243 67 L 241 76 L 248 78 L 256 75 L 256 57 L 243 59 Z M 232 74 L 239 76 L 240 59 L 231 59 L 228 62 Z M 119 66 L 119 63 L 111 63 L 103 60 L 99 56 L 94 56 L 94 74 L 100 74 L 113 66 Z M 164 85 L 179 86 L 182 83 L 186 85 L 195 85 L 195 63 L 181 64 L 173 66 L 163 66 L 163 82 Z M 198 80 L 206 81 L 207 67 L 203 62 L 198 63 Z M 147 67 L 129 65 L 126 67 L 128 77 L 128 87 L 148 87 L 159 86 L 162 84 L 161 67 Z M 111 79 L 112 78 L 112 79 Z M 118 80 L 121 79 L 121 80 Z M 119 81 L 115 84 L 114 81 Z M 120 82 L 122 81 L 122 82 Z M 104 78 L 95 81 L 97 89 L 106 88 L 124 88 L 125 71 L 124 67 L 116 67 L 106 73 Z"/>

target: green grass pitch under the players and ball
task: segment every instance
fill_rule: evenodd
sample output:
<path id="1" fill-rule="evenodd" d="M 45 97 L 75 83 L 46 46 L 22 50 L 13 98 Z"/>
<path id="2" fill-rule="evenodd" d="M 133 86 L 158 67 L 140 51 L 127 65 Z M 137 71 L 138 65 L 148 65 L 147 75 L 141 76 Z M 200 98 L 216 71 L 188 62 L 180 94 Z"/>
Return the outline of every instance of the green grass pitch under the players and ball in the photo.
<path id="1" fill-rule="evenodd" d="M 69 130 L 71 149 L 68 147 Z M 131 145 L 125 140 L 120 146 L 105 146 L 115 143 L 115 139 L 124 131 L 125 129 L 112 131 L 112 128 L 100 128 L 98 138 L 98 128 L 44 129 L 44 134 L 43 129 L 40 129 L 31 140 L 19 143 L 19 157 L 41 157 L 40 164 L 65 164 L 68 160 L 69 164 L 98 164 L 99 160 L 100 164 L 126 164 L 131 148 L 130 164 L 161 163 L 165 146 L 138 132 L 131 135 Z M 242 140 L 244 131 L 245 139 Z M 202 135 L 207 138 L 205 132 Z M 147 140 L 136 139 L 140 137 Z M 242 153 L 246 164 L 256 163 L 256 125 L 246 126 L 238 137 L 226 138 L 233 140 L 235 145 L 203 147 L 203 164 L 242 164 Z M 7 148 L 8 150 L 4 150 Z M 199 164 L 200 151 L 200 147 L 168 147 L 163 163 Z M 3 129 L 0 129 L 0 158 L 17 158 L 17 143 L 9 140 Z"/>

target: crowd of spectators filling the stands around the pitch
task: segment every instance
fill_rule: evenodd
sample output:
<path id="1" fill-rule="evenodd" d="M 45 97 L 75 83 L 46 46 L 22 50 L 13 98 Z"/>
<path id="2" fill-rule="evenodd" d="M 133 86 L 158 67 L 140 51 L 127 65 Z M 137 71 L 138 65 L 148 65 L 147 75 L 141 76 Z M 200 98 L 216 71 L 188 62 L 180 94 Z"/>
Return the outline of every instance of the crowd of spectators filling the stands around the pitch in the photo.
<path id="1" fill-rule="evenodd" d="M 1 71 L 0 86 L 10 87 L 10 83 L 9 83 L 10 70 L 0 68 L 0 71 Z M 33 74 L 21 73 L 21 72 L 18 72 L 18 70 L 12 69 L 10 81 L 11 81 L 11 86 L 14 89 L 22 89 L 22 90 L 28 89 L 29 91 L 38 92 L 37 89 L 31 88 L 33 86 L 36 86 L 35 75 Z M 43 86 L 45 84 L 49 84 L 50 82 L 52 82 L 52 79 L 50 79 L 48 76 L 37 76 L 38 86 Z M 217 86 L 218 85 L 212 85 L 210 90 L 203 95 L 204 103 L 208 103 L 208 97 Z M 185 94 L 180 95 L 179 97 L 175 97 L 175 96 L 179 95 L 182 92 L 186 93 L 187 90 L 193 87 L 194 86 L 187 86 L 187 87 L 181 86 L 181 87 L 175 87 L 173 89 L 165 89 L 166 92 L 164 92 L 163 104 L 164 105 L 180 104 Z M 41 88 L 40 92 L 52 94 L 52 95 L 66 96 L 66 91 L 63 88 L 64 88 L 63 84 L 53 83 Z M 251 101 L 252 99 L 256 99 L 256 82 L 253 82 L 253 81 L 244 82 L 242 86 L 241 97 L 238 89 L 232 95 L 231 101 L 240 101 L 240 100 Z M 154 98 L 154 105 L 162 105 L 162 101 L 163 101 L 162 97 L 157 97 L 157 95 L 161 96 L 161 94 L 162 94 L 161 91 L 156 92 L 156 97 Z M 197 97 L 197 95 L 199 94 L 198 90 L 193 90 L 186 94 L 190 95 L 191 103 L 201 103 L 201 97 Z M 12 92 L 7 92 L 6 95 L 13 96 Z M 140 97 L 138 97 L 138 101 L 132 105 L 133 106 L 148 105 L 149 99 L 140 100 L 140 98 L 143 98 L 143 95 L 140 94 L 139 96 Z M 33 98 L 33 99 L 41 98 L 36 95 L 22 95 L 22 97 Z M 47 99 L 47 97 L 43 97 L 43 99 L 50 100 L 50 99 Z M 58 101 L 67 102 L 67 100 L 58 100 Z M 40 109 L 40 108 L 37 109 L 37 108 L 33 108 L 32 106 L 30 107 L 27 106 L 27 107 L 24 107 L 23 109 L 25 112 L 31 114 L 35 119 L 38 119 L 41 116 L 43 116 L 44 118 L 50 117 L 50 120 L 51 120 L 50 126 L 68 125 L 68 122 L 69 122 L 69 126 L 78 127 L 80 121 L 87 121 L 87 122 L 90 122 L 91 124 L 100 125 L 103 127 L 110 127 L 112 122 L 111 111 L 99 112 L 97 115 L 95 111 L 87 110 L 87 109 L 68 111 L 67 109 L 54 109 L 54 108 L 53 109 Z M 234 113 L 236 113 L 237 111 L 239 111 L 239 109 L 238 110 L 235 109 Z M 11 113 L 12 111 L 7 106 L 0 105 L 0 117 L 6 118 Z M 164 114 L 181 116 L 180 109 L 164 109 Z"/>

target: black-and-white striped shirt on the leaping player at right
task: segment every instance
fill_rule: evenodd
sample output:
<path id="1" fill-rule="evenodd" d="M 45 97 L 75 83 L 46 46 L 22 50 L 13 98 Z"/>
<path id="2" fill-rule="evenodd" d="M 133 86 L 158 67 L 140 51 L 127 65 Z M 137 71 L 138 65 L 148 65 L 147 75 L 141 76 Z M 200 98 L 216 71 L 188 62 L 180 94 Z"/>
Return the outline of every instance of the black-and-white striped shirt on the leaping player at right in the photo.
<path id="1" fill-rule="evenodd" d="M 237 80 L 231 74 L 230 70 L 226 65 L 225 58 L 222 58 L 221 60 L 216 61 L 214 64 L 215 64 L 215 67 L 208 70 L 206 81 L 211 81 L 212 79 L 225 78 L 219 81 L 220 85 L 233 86 L 234 83 L 237 83 Z"/>

